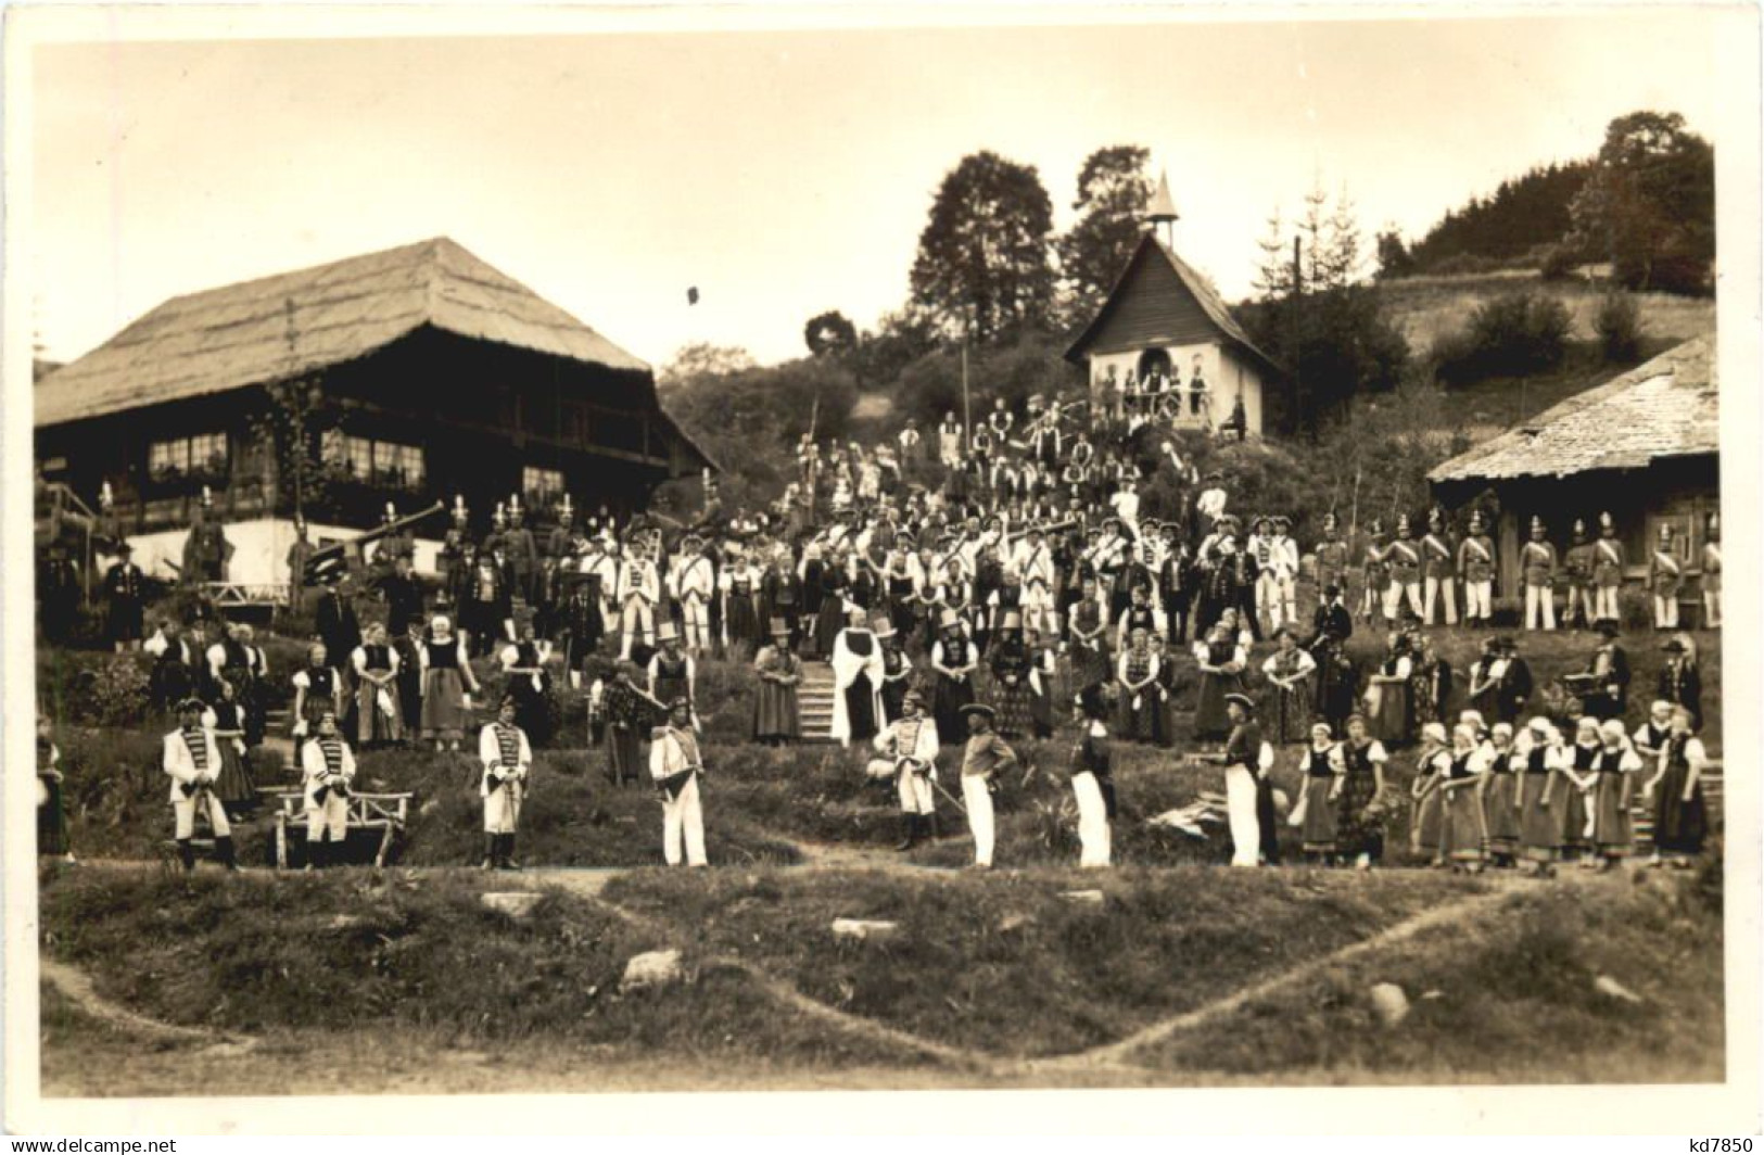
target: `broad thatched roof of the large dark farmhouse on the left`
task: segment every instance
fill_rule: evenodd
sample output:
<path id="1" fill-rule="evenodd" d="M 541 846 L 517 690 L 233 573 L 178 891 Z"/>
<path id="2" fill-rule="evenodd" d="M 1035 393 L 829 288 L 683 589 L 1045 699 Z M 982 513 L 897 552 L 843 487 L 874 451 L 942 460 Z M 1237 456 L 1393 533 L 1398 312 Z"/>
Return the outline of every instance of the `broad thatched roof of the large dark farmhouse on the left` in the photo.
<path id="1" fill-rule="evenodd" d="M 48 374 L 35 390 L 35 423 L 58 425 L 291 377 L 365 356 L 425 324 L 609 369 L 649 369 L 533 289 L 437 236 L 175 296 Z"/>

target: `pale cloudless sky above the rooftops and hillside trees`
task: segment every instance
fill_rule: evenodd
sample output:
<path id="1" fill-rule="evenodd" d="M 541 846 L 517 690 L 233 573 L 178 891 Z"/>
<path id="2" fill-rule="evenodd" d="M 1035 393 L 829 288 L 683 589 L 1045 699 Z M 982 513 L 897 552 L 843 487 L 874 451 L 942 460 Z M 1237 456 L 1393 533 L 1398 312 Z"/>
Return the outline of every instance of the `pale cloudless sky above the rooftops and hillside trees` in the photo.
<path id="1" fill-rule="evenodd" d="M 1369 240 L 1413 238 L 1612 116 L 1713 134 L 1711 35 L 1605 11 L 44 46 L 35 328 L 65 360 L 176 293 L 446 235 L 656 367 L 695 340 L 776 361 L 824 309 L 868 326 L 905 300 L 965 153 L 1034 164 L 1065 226 L 1117 143 L 1168 168 L 1177 249 L 1238 300 L 1316 176 Z"/>

